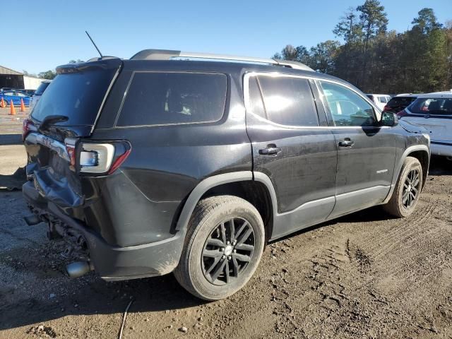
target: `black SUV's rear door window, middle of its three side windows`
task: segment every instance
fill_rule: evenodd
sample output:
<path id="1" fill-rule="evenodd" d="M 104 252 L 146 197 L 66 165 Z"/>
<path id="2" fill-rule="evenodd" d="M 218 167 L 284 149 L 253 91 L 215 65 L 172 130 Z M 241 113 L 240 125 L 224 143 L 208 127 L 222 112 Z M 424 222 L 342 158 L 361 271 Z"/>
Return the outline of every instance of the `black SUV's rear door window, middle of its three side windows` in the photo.
<path id="1" fill-rule="evenodd" d="M 306 79 L 258 76 L 268 120 L 289 126 L 319 126 L 314 97 Z"/>

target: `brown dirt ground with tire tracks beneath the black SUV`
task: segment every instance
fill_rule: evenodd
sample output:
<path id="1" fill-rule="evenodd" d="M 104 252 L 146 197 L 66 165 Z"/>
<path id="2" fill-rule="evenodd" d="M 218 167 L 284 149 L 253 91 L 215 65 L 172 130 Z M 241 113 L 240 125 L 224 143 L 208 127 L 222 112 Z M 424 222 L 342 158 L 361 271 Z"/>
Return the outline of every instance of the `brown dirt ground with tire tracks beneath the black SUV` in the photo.
<path id="1" fill-rule="evenodd" d="M 69 280 L 64 244 L 44 224 L 28 227 L 27 213 L 20 191 L 0 189 L 2 339 L 117 338 L 131 299 L 123 338 L 452 338 L 446 160 L 432 160 L 410 218 L 371 208 L 274 242 L 248 285 L 220 302 L 191 297 L 172 275 Z"/>

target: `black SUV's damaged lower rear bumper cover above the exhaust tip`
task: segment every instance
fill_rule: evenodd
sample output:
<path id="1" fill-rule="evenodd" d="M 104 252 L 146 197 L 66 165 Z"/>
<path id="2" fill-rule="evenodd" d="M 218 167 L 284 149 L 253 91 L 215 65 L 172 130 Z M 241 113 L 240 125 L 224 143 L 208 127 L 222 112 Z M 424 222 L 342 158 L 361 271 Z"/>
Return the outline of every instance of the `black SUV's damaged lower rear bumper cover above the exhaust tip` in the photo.
<path id="1" fill-rule="evenodd" d="M 22 189 L 25 201 L 30 205 L 46 210 L 47 213 L 83 234 L 95 270 L 105 280 L 128 280 L 164 275 L 172 272 L 179 263 L 184 245 L 182 232 L 161 242 L 127 247 L 111 246 L 99 234 L 64 214 L 55 203 L 43 198 L 32 182 L 23 184 Z"/>

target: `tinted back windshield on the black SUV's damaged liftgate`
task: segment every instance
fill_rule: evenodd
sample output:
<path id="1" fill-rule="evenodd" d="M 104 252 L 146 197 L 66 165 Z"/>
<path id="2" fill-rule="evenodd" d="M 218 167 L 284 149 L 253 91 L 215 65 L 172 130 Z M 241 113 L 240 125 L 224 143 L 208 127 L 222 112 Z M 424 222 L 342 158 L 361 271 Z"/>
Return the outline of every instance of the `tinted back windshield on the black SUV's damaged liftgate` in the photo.
<path id="1" fill-rule="evenodd" d="M 116 69 L 59 74 L 42 94 L 31 116 L 42 121 L 48 115 L 64 115 L 59 125 L 92 125 Z"/>

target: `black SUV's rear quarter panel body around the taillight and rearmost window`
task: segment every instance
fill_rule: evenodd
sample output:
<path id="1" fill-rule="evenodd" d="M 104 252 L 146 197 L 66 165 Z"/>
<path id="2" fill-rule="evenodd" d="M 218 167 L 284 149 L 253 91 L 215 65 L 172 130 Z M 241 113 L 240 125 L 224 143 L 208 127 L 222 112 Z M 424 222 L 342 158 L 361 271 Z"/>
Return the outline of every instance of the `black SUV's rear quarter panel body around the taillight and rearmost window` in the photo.
<path id="1" fill-rule="evenodd" d="M 102 224 L 111 225 L 114 232 L 103 235 L 121 246 L 172 237 L 185 199 L 202 179 L 250 171 L 252 161 L 239 76 L 227 74 L 225 114 L 218 122 L 116 127 L 114 119 L 132 73 L 127 68 L 121 72 L 91 138 L 127 140 L 131 154 L 113 175 L 83 180 L 84 191 L 90 191 L 85 215 L 105 218 Z"/>

